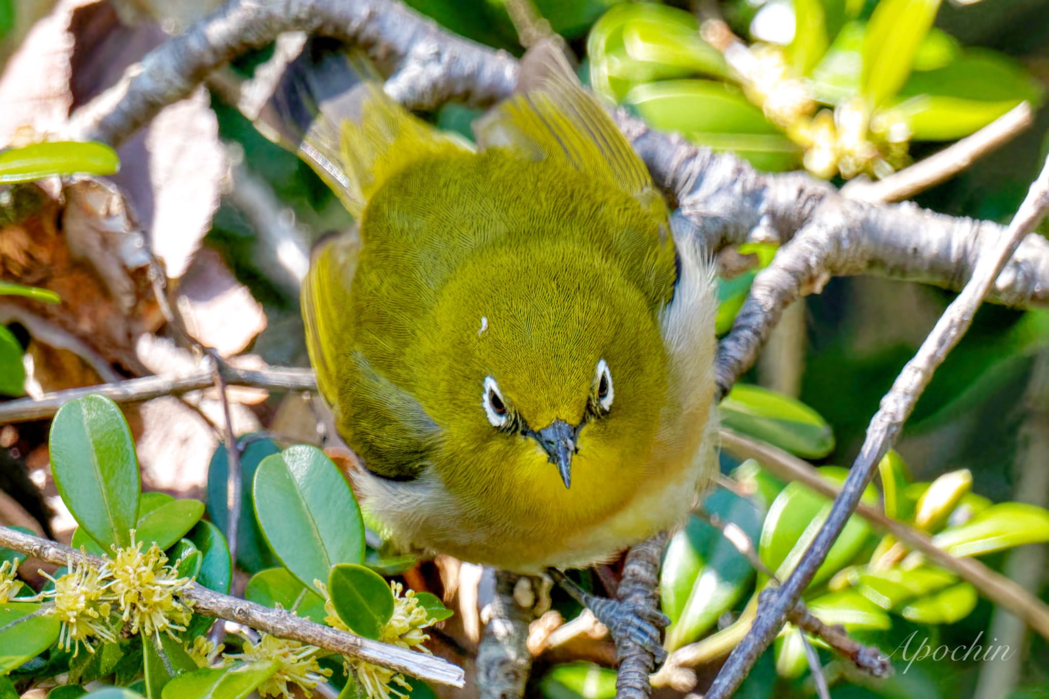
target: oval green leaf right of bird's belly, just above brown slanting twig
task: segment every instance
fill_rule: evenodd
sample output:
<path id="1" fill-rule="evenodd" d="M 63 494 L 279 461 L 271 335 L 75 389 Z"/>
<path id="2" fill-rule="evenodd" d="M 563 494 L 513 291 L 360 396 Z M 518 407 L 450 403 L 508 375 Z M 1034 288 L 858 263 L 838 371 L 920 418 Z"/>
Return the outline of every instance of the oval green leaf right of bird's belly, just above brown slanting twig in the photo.
<path id="1" fill-rule="evenodd" d="M 736 384 L 721 405 L 722 423 L 731 430 L 807 459 L 834 449 L 831 425 L 794 398 L 757 386 Z"/>

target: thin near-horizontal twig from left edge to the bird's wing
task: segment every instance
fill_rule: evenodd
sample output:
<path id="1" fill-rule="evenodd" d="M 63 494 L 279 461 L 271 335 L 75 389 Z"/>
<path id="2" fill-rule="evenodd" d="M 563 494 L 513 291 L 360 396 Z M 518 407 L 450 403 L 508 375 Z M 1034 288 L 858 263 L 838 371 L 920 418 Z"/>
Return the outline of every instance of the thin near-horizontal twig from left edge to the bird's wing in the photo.
<path id="1" fill-rule="evenodd" d="M 317 379 L 311 369 L 265 367 L 263 369 L 238 369 L 222 363 L 222 378 L 231 386 L 276 389 L 281 391 L 315 391 Z M 82 389 L 68 389 L 47 393 L 40 398 L 18 398 L 0 402 L 0 424 L 25 422 L 51 417 L 64 403 L 83 398 L 91 393 L 100 393 L 117 403 L 143 402 L 167 395 L 181 395 L 213 386 L 214 376 L 210 369 L 196 371 L 186 376 L 143 376 L 123 381 L 100 384 Z"/>

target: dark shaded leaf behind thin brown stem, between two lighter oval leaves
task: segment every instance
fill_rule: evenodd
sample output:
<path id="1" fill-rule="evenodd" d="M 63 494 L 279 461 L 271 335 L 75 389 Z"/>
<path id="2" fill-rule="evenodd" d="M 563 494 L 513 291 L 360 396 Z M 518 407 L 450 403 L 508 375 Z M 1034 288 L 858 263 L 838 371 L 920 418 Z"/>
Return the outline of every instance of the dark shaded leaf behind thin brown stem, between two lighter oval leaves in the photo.
<path id="1" fill-rule="evenodd" d="M 269 438 L 245 437 L 247 446 L 240 454 L 240 478 L 244 483 L 241 489 L 240 519 L 237 522 L 237 565 L 248 572 L 257 572 L 265 568 L 280 565 L 277 556 L 270 549 L 258 522 L 255 520 L 255 505 L 250 484 L 255 479 L 255 469 L 265 457 L 278 454 L 280 449 Z M 211 457 L 208 467 L 208 512 L 224 536 L 229 531 L 229 514 L 227 509 L 227 486 L 229 463 L 226 458 L 226 446 L 220 444 Z"/>

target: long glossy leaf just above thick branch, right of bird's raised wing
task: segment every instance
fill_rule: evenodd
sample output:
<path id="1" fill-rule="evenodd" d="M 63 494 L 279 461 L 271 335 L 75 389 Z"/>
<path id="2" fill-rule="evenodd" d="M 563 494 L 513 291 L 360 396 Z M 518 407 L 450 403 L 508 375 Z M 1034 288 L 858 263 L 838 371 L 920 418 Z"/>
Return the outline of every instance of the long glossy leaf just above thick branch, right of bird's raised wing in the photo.
<path id="1" fill-rule="evenodd" d="M 732 151 L 756 168 L 782 171 L 799 162 L 798 147 L 731 85 L 705 80 L 646 83 L 630 89 L 623 102 L 655 128 Z"/>

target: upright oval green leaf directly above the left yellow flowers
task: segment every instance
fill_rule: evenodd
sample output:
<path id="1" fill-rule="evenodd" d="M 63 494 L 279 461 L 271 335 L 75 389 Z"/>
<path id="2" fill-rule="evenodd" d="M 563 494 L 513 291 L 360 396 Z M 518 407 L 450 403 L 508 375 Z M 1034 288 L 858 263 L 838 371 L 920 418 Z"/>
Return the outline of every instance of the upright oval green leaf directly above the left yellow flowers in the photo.
<path id="1" fill-rule="evenodd" d="M 130 545 L 142 485 L 116 403 L 98 394 L 65 403 L 51 422 L 49 447 L 55 484 L 77 523 L 103 548 Z"/>

